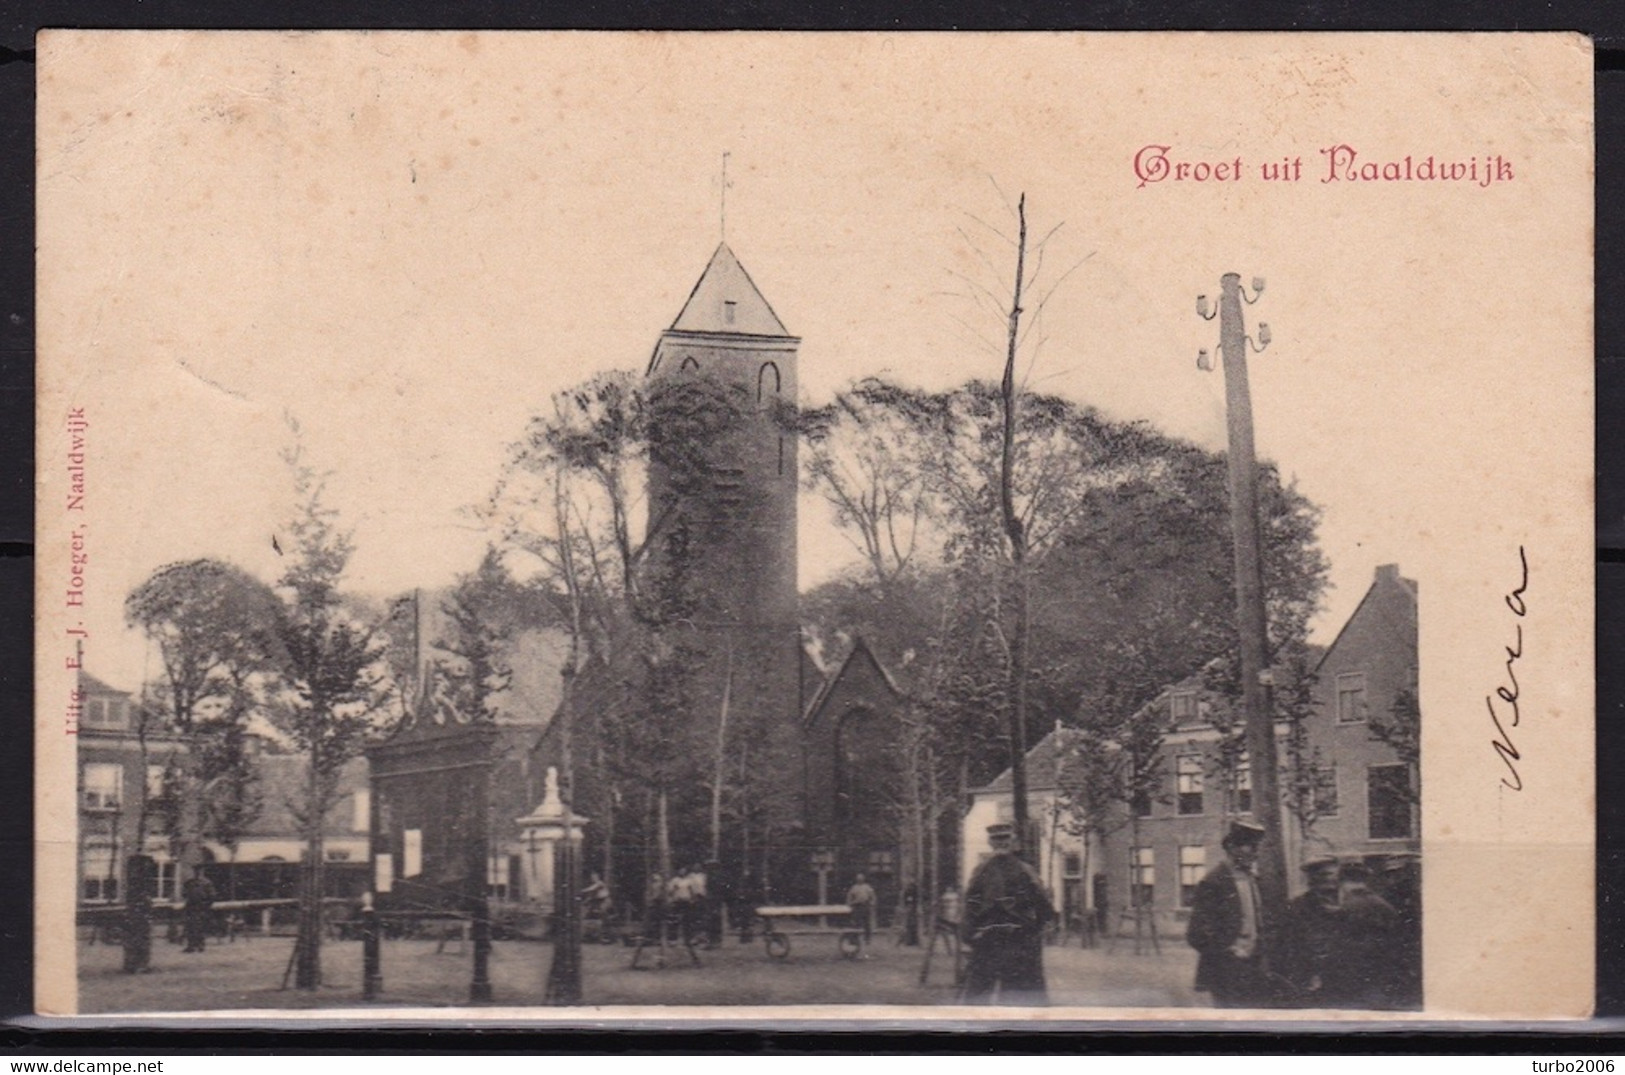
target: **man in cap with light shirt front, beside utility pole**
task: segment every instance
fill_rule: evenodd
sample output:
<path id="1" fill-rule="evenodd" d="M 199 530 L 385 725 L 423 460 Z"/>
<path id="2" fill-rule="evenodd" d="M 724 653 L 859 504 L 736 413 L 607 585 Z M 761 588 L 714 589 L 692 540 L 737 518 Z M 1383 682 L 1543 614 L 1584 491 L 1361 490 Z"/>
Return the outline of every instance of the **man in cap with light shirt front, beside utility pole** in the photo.
<path id="1" fill-rule="evenodd" d="M 1264 828 L 1232 822 L 1220 862 L 1196 885 L 1185 940 L 1196 948 L 1196 987 L 1220 1008 L 1266 1007 L 1271 989 L 1264 974 L 1263 927 L 1268 909 L 1253 867 Z"/>

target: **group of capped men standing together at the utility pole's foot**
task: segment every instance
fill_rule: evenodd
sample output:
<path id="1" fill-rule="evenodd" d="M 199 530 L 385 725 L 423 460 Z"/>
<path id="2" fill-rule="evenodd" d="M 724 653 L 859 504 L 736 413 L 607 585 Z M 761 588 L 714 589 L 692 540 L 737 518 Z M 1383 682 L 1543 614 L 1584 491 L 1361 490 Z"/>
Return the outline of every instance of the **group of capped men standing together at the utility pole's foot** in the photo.
<path id="1" fill-rule="evenodd" d="M 1264 830 L 1233 822 L 1225 861 L 1196 887 L 1186 940 L 1196 987 L 1230 1008 L 1409 1008 L 1422 1000 L 1420 877 L 1414 856 L 1380 872 L 1334 856 L 1303 864 L 1284 908 L 1258 887 Z"/>

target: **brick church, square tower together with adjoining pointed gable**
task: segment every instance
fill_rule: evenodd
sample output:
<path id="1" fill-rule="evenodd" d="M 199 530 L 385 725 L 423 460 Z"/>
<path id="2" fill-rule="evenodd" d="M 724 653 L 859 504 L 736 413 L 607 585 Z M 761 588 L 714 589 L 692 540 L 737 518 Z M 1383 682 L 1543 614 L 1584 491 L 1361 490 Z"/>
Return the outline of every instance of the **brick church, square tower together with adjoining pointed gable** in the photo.
<path id="1" fill-rule="evenodd" d="M 866 872 L 882 908 L 897 892 L 899 796 L 892 755 L 904 692 L 861 641 L 826 671 L 804 648 L 796 591 L 795 430 L 800 338 L 790 335 L 733 250 L 717 247 L 648 362 L 652 383 L 704 378 L 736 401 L 725 435 L 704 447 L 679 487 L 650 464 L 648 542 L 678 541 L 694 594 L 682 640 L 691 719 L 752 729 L 741 753 L 772 768 L 790 818 L 756 841 L 726 846 L 723 869 L 775 901 L 838 901 Z M 757 775 L 760 783 L 760 775 Z M 679 835 L 674 835 L 678 840 Z M 749 843 L 749 838 L 744 838 Z M 777 844 L 777 846 L 769 846 Z M 743 866 L 741 866 L 743 862 Z M 821 879 L 821 880 L 819 880 Z"/>

